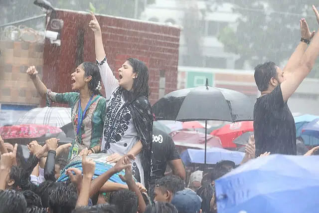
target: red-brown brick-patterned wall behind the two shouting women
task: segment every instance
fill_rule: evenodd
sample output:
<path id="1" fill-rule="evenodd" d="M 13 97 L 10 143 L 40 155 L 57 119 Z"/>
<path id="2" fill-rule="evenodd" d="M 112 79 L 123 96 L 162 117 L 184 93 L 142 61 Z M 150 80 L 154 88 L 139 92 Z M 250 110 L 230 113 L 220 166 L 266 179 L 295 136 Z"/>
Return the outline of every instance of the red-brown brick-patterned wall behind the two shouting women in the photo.
<path id="1" fill-rule="evenodd" d="M 56 92 L 71 91 L 70 73 L 83 61 L 95 61 L 94 35 L 88 27 L 91 15 L 58 10 L 64 21 L 61 46 L 45 42 L 43 81 Z M 111 69 L 117 70 L 128 57 L 143 60 L 150 73 L 150 100 L 159 97 L 160 71 L 165 71 L 165 93 L 177 86 L 180 29 L 139 20 L 97 16 Z"/>

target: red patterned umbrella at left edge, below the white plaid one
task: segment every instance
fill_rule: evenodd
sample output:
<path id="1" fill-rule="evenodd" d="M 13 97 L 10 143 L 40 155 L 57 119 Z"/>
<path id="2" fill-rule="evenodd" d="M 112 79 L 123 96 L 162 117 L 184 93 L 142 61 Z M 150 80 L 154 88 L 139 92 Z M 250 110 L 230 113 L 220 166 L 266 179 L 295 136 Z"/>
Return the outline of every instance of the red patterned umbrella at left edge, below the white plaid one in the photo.
<path id="1" fill-rule="evenodd" d="M 60 128 L 36 124 L 0 127 L 0 135 L 3 139 L 39 138 L 46 134 L 57 134 L 60 132 L 62 132 Z"/>

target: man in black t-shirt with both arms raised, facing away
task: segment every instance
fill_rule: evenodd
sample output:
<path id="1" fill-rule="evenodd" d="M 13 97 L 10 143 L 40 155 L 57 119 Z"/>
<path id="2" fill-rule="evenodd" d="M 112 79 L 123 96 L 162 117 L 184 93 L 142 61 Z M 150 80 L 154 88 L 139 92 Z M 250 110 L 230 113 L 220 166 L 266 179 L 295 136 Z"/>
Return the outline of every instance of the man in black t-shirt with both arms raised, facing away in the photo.
<path id="1" fill-rule="evenodd" d="M 313 9 L 319 22 L 319 13 L 315 6 Z M 301 42 L 283 70 L 274 62 L 259 64 L 254 69 L 256 85 L 261 92 L 254 106 L 256 156 L 265 152 L 297 154 L 295 121 L 287 101 L 319 56 L 319 33 L 311 33 L 304 18 L 300 20 L 300 29 Z"/>

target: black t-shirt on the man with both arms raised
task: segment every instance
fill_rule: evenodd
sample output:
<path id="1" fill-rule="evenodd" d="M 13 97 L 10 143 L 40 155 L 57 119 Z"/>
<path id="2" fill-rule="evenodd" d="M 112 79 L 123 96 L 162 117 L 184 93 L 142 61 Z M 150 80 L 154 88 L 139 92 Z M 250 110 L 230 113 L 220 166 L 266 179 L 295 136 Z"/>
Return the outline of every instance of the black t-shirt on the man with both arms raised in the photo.
<path id="1" fill-rule="evenodd" d="M 281 86 L 257 98 L 254 107 L 256 156 L 271 154 L 296 155 L 294 117 L 284 102 Z"/>

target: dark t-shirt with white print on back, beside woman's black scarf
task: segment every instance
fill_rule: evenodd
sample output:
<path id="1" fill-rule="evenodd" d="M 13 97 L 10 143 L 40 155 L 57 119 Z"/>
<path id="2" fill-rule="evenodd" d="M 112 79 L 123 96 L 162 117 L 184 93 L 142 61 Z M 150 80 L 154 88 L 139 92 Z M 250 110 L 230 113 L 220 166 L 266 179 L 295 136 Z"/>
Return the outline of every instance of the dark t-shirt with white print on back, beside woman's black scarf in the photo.
<path id="1" fill-rule="evenodd" d="M 153 128 L 150 197 L 154 200 L 156 180 L 164 177 L 168 161 L 180 159 L 179 152 L 171 137 L 165 132 Z"/>

